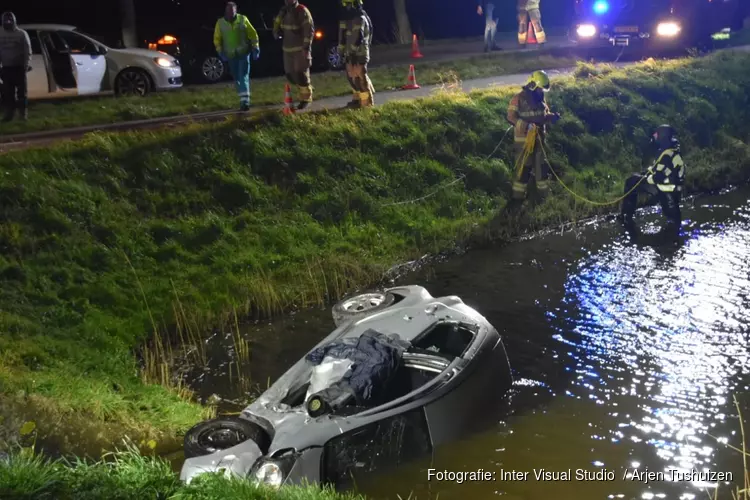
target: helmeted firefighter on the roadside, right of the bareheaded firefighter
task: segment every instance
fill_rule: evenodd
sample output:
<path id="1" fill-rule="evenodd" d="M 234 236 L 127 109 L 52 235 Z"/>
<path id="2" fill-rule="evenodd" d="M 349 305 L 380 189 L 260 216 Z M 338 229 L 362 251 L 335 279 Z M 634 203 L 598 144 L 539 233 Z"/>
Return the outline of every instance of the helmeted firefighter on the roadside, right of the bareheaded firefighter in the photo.
<path id="1" fill-rule="evenodd" d="M 346 77 L 354 91 L 348 108 L 364 108 L 375 104 L 375 88 L 367 74 L 372 44 L 372 21 L 362 0 L 341 0 L 339 21 L 339 54 L 344 57 Z"/>

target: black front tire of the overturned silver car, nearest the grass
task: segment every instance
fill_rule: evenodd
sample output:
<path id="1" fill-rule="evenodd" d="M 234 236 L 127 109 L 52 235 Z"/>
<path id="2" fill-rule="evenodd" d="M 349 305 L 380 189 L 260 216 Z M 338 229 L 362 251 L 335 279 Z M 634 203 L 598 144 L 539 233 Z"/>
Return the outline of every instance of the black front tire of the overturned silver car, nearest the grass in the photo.
<path id="1" fill-rule="evenodd" d="M 270 438 L 258 425 L 239 417 L 220 417 L 194 425 L 185 434 L 185 458 L 202 457 L 252 439 L 263 453 Z"/>

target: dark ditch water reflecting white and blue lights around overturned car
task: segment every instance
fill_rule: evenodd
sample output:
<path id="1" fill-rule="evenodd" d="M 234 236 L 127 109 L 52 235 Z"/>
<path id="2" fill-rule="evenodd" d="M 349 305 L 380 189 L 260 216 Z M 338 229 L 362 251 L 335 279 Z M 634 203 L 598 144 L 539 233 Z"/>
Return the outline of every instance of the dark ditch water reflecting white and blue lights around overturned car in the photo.
<path id="1" fill-rule="evenodd" d="M 689 500 L 708 498 L 703 489 L 715 487 L 711 478 L 670 481 L 669 473 L 666 481 L 624 480 L 627 468 L 732 472 L 741 483 L 740 454 L 717 439 L 741 446 L 733 396 L 744 408 L 748 199 L 750 190 L 741 189 L 687 202 L 677 244 L 653 234 L 661 218 L 652 213 L 641 217 L 646 234 L 635 241 L 614 223 L 592 223 L 472 251 L 409 277 L 436 297 L 460 296 L 501 332 L 517 380 L 514 411 L 431 459 L 360 483 L 360 491 L 378 498 Z M 249 328 L 254 381 L 265 387 L 331 328 L 328 310 Z M 226 359 L 217 345 L 214 356 Z M 204 395 L 238 397 L 220 372 L 204 379 Z M 496 480 L 430 481 L 428 468 L 484 469 Z M 570 469 L 573 478 L 536 480 L 540 469 Z M 577 469 L 606 470 L 614 479 L 578 481 Z M 504 481 L 501 470 L 528 476 Z M 729 486 L 722 488 L 720 497 L 729 496 Z"/>

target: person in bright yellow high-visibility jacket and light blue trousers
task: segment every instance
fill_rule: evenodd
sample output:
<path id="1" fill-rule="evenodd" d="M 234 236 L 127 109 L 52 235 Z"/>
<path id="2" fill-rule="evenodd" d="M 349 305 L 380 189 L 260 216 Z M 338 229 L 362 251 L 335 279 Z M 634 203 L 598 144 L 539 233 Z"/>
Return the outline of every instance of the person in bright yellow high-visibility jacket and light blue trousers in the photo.
<path id="1" fill-rule="evenodd" d="M 258 32 L 250 20 L 237 14 L 237 4 L 227 2 L 224 17 L 214 27 L 214 47 L 219 57 L 229 63 L 229 72 L 234 78 L 240 109 L 250 109 L 250 54 L 254 61 L 260 58 Z"/>

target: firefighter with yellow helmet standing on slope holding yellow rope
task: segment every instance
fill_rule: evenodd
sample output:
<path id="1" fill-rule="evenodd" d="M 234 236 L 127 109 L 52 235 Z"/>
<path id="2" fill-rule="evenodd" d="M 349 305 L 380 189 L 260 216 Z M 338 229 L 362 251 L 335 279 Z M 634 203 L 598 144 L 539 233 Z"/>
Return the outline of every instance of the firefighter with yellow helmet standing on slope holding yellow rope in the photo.
<path id="1" fill-rule="evenodd" d="M 552 113 L 545 101 L 545 93 L 550 89 L 549 76 L 544 71 L 532 73 L 523 90 L 513 96 L 508 105 L 508 121 L 514 128 L 514 146 L 516 150 L 516 172 L 513 182 L 513 199 L 523 200 L 531 177 L 532 167 L 536 187 L 541 193 L 549 189 L 549 165 L 544 156 L 543 146 L 546 138 L 546 125 L 557 123 L 558 113 Z M 526 138 L 531 127 L 536 127 L 537 138 L 531 153 L 525 158 Z M 523 162 L 523 164 L 521 164 Z"/>

